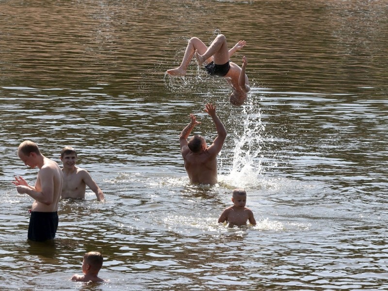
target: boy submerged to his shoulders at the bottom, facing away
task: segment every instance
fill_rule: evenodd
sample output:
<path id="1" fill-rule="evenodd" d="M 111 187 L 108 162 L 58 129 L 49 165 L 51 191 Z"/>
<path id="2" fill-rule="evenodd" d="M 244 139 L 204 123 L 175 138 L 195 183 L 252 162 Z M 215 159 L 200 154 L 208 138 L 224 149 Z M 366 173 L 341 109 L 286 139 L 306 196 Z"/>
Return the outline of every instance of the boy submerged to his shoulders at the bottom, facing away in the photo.
<path id="1" fill-rule="evenodd" d="M 99 252 L 86 253 L 82 261 L 82 273 L 84 275 L 75 274 L 71 277 L 71 280 L 77 282 L 105 282 L 105 280 L 98 277 L 103 260 L 104 258 Z"/>

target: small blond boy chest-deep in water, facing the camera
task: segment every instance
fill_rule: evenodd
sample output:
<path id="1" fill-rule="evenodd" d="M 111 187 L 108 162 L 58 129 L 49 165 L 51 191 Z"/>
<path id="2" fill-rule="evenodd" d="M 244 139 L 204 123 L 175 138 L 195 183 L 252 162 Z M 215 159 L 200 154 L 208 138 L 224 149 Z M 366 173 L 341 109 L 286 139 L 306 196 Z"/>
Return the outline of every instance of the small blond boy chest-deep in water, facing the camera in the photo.
<path id="1" fill-rule="evenodd" d="M 256 226 L 256 220 L 253 217 L 253 212 L 245 207 L 246 192 L 243 189 L 234 189 L 232 196 L 233 206 L 226 208 L 222 212 L 218 223 L 228 222 L 230 227 L 245 226 L 246 221 L 249 220 L 251 225 Z"/>

